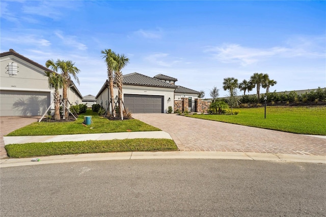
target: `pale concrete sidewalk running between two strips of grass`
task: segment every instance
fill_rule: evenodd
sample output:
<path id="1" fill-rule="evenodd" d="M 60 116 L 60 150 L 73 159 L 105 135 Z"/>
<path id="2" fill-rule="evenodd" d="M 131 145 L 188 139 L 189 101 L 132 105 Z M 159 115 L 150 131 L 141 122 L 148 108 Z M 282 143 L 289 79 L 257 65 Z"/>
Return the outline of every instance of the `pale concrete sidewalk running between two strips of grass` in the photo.
<path id="1" fill-rule="evenodd" d="M 92 134 L 70 134 L 70 135 L 36 135 L 24 137 L 4 137 L 5 145 L 24 143 L 46 143 L 64 141 L 87 141 L 87 140 L 123 140 L 123 139 L 170 139 L 169 133 L 165 131 L 141 131 L 141 132 L 112 132 Z"/>

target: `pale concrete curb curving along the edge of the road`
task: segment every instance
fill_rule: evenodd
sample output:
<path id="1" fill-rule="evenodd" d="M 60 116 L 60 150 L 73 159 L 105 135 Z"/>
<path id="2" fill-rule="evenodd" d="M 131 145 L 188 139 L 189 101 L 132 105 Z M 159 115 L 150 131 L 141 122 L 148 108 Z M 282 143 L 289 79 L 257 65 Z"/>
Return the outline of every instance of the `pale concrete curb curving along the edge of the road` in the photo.
<path id="1" fill-rule="evenodd" d="M 99 160 L 133 160 L 133 159 L 238 159 L 238 160 L 266 160 L 276 162 L 309 162 L 326 164 L 326 156 L 294 155 L 254 152 L 195 152 L 195 151 L 167 151 L 167 152 L 115 152 L 93 154 L 67 154 L 38 157 L 40 161 L 31 161 L 32 158 L 9 158 L 0 160 L 0 168 L 19 167 L 30 165 L 59 164 L 65 162 L 99 161 Z"/>

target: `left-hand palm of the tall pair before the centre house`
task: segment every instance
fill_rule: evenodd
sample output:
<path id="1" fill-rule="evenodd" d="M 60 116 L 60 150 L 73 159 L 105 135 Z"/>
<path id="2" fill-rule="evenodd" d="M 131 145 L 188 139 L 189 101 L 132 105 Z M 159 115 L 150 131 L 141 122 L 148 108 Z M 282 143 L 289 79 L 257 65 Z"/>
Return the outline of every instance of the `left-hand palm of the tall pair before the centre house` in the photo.
<path id="1" fill-rule="evenodd" d="M 116 53 L 111 49 L 101 50 L 101 53 L 104 55 L 102 56 L 105 58 L 105 63 L 107 67 L 107 79 L 108 79 L 108 86 L 110 89 L 110 103 L 111 103 L 111 115 L 114 115 L 114 94 L 113 94 L 113 80 L 114 80 L 114 56 Z M 110 106 L 110 103 L 108 106 Z"/>

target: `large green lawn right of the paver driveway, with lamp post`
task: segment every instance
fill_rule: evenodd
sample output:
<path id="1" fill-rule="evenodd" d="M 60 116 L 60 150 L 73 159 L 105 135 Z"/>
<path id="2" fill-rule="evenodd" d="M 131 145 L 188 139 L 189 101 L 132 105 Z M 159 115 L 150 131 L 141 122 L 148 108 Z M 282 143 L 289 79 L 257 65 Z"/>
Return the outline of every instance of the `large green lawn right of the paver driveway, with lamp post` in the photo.
<path id="1" fill-rule="evenodd" d="M 326 106 L 267 106 L 234 108 L 238 115 L 188 115 L 192 118 L 221 121 L 300 134 L 326 135 Z"/>

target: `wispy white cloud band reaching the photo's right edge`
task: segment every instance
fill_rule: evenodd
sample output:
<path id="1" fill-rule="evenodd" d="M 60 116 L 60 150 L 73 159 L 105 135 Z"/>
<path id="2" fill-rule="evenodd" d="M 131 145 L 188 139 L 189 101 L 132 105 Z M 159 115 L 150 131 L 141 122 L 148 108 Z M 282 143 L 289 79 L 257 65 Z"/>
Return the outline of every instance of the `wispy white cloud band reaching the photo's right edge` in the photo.
<path id="1" fill-rule="evenodd" d="M 242 66 L 251 65 L 267 58 L 324 58 L 325 38 L 295 38 L 288 40 L 288 46 L 275 46 L 270 48 L 244 47 L 239 44 L 223 44 L 210 46 L 204 50 L 209 52 L 214 59 L 222 63 L 239 63 Z"/>

